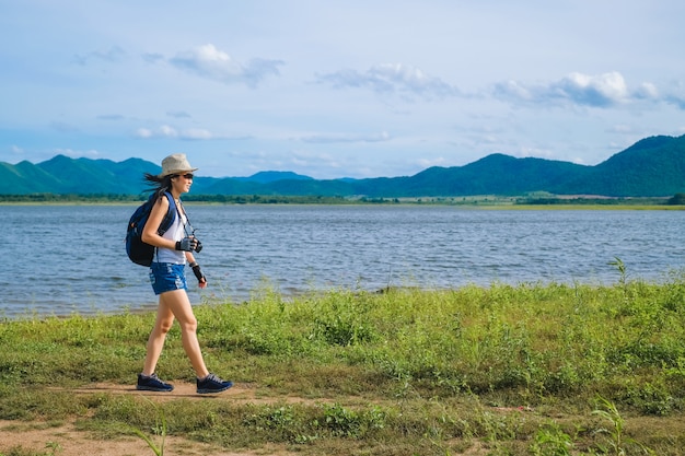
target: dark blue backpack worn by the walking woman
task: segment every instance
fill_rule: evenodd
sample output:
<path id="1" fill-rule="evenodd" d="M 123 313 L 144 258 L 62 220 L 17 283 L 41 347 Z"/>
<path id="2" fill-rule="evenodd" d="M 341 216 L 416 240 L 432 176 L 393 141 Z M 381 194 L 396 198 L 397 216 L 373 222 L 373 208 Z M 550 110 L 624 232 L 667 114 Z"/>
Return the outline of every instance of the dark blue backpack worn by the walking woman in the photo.
<path id="1" fill-rule="evenodd" d="M 128 229 L 126 230 L 126 254 L 136 265 L 150 266 L 152 265 L 152 257 L 154 256 L 154 246 L 142 242 L 142 231 L 146 227 L 146 223 L 152 212 L 152 207 L 155 203 L 155 195 L 150 195 L 150 198 L 136 209 L 136 212 L 128 221 Z M 169 211 L 162 219 L 160 227 L 156 230 L 161 236 L 166 233 L 166 230 L 171 227 L 176 219 L 176 203 L 174 197 L 167 191 L 164 192 L 166 199 L 169 199 Z"/>

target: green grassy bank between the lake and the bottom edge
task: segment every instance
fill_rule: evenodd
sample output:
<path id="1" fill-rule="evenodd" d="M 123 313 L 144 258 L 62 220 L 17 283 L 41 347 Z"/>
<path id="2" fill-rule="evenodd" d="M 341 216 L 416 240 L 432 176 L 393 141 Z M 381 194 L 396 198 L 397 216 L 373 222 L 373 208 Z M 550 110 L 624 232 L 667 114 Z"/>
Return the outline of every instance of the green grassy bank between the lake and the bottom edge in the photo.
<path id="1" fill-rule="evenodd" d="M 209 366 L 255 400 L 74 396 L 93 383 L 132 384 L 154 316 L 7 320 L 0 420 L 76 418 L 98 439 L 137 429 L 152 441 L 302 455 L 685 454 L 681 276 L 288 302 L 264 291 L 196 312 Z M 177 328 L 158 372 L 194 379 Z"/>

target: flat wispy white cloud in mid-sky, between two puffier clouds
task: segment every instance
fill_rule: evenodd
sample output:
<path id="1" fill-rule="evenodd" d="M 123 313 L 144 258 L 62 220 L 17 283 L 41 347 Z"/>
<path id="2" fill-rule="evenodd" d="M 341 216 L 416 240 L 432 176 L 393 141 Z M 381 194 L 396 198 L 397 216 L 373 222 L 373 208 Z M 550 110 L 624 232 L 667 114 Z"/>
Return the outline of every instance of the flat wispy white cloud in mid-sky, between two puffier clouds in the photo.
<path id="1" fill-rule="evenodd" d="M 378 94 L 397 93 L 408 101 L 413 101 L 415 96 L 432 101 L 460 95 L 455 86 L 425 73 L 419 68 L 402 63 L 378 65 L 363 73 L 357 70 L 340 70 L 320 74 L 316 80 L 335 89 L 368 89 Z"/>

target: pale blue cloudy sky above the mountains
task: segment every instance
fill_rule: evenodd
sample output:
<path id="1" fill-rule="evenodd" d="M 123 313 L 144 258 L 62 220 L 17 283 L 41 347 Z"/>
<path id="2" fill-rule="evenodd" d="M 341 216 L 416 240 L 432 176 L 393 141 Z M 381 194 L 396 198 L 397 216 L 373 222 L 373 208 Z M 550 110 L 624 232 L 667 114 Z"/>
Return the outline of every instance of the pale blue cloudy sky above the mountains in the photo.
<path id="1" fill-rule="evenodd" d="M 409 176 L 685 135 L 681 0 L 0 0 L 0 162 Z"/>

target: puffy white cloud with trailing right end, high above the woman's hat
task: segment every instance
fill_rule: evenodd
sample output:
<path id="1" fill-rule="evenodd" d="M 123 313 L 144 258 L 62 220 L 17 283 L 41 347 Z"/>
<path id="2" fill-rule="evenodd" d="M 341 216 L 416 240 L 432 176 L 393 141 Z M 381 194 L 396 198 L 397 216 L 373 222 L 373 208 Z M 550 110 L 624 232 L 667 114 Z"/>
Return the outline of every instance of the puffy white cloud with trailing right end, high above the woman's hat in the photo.
<path id="1" fill-rule="evenodd" d="M 279 75 L 278 67 L 285 65 L 282 60 L 259 58 L 241 65 L 212 44 L 178 52 L 169 61 L 178 69 L 202 78 L 227 84 L 243 83 L 249 87 L 255 87 L 269 75 Z"/>

